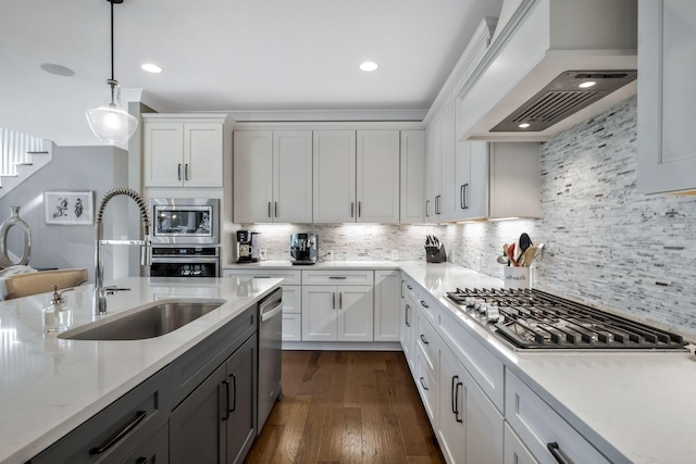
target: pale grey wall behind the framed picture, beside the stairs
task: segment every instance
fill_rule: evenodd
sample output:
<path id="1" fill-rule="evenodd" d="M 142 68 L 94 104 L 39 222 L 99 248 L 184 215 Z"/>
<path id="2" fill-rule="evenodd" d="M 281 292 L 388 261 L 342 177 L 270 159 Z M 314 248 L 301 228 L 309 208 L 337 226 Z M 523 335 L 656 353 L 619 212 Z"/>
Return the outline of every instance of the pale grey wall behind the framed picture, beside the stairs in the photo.
<path id="1" fill-rule="evenodd" d="M 95 227 L 47 225 L 44 220 L 45 190 L 94 190 L 95 210 L 101 197 L 113 187 L 127 186 L 127 154 L 114 147 L 57 147 L 53 160 L 22 185 L 0 199 L 0 221 L 10 217 L 10 206 L 21 206 L 20 216 L 32 230 L 33 267 L 86 267 L 94 281 Z M 104 212 L 105 238 L 126 234 L 125 198 L 116 198 Z M 10 251 L 21 254 L 21 249 Z M 125 253 L 107 250 L 104 275 L 127 275 Z"/>

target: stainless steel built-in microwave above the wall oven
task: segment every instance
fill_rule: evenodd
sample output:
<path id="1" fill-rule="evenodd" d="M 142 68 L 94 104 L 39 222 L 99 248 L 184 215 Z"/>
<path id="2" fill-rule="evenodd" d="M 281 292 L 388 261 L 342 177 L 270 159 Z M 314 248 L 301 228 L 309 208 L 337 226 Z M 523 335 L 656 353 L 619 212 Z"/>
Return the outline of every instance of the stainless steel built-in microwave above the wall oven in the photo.
<path id="1" fill-rule="evenodd" d="M 152 198 L 152 243 L 220 243 L 220 200 Z"/>

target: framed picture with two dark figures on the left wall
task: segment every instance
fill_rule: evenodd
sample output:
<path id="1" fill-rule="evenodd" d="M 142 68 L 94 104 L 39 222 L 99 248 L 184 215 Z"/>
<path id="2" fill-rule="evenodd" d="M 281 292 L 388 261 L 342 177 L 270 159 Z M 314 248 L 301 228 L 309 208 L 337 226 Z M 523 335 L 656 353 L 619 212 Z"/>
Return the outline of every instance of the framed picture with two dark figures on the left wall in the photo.
<path id="1" fill-rule="evenodd" d="M 95 224 L 95 192 L 45 191 L 44 211 L 46 224 L 65 226 Z"/>

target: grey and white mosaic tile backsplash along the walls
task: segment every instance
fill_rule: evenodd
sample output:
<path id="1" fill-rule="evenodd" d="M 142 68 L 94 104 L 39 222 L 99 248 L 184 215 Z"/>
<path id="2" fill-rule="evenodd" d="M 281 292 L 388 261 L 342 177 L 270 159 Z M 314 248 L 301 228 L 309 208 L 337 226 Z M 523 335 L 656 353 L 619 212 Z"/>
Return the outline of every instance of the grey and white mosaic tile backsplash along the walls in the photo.
<path id="1" fill-rule="evenodd" d="M 526 231 L 545 243 L 535 288 L 616 309 L 696 339 L 696 198 L 636 192 L 636 98 L 542 145 L 542 218 L 457 224 L 254 225 L 270 260 L 290 234 L 320 235 L 334 260 L 424 260 L 437 235 L 448 261 L 495 277 L 502 243 Z"/>

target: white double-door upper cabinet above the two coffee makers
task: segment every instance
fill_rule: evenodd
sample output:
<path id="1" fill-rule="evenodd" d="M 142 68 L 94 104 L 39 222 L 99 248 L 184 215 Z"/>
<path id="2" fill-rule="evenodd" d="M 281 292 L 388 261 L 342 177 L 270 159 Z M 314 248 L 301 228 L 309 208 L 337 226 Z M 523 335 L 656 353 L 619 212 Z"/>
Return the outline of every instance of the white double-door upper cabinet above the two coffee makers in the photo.
<path id="1" fill-rule="evenodd" d="M 234 221 L 312 222 L 311 130 L 235 133 Z"/>

